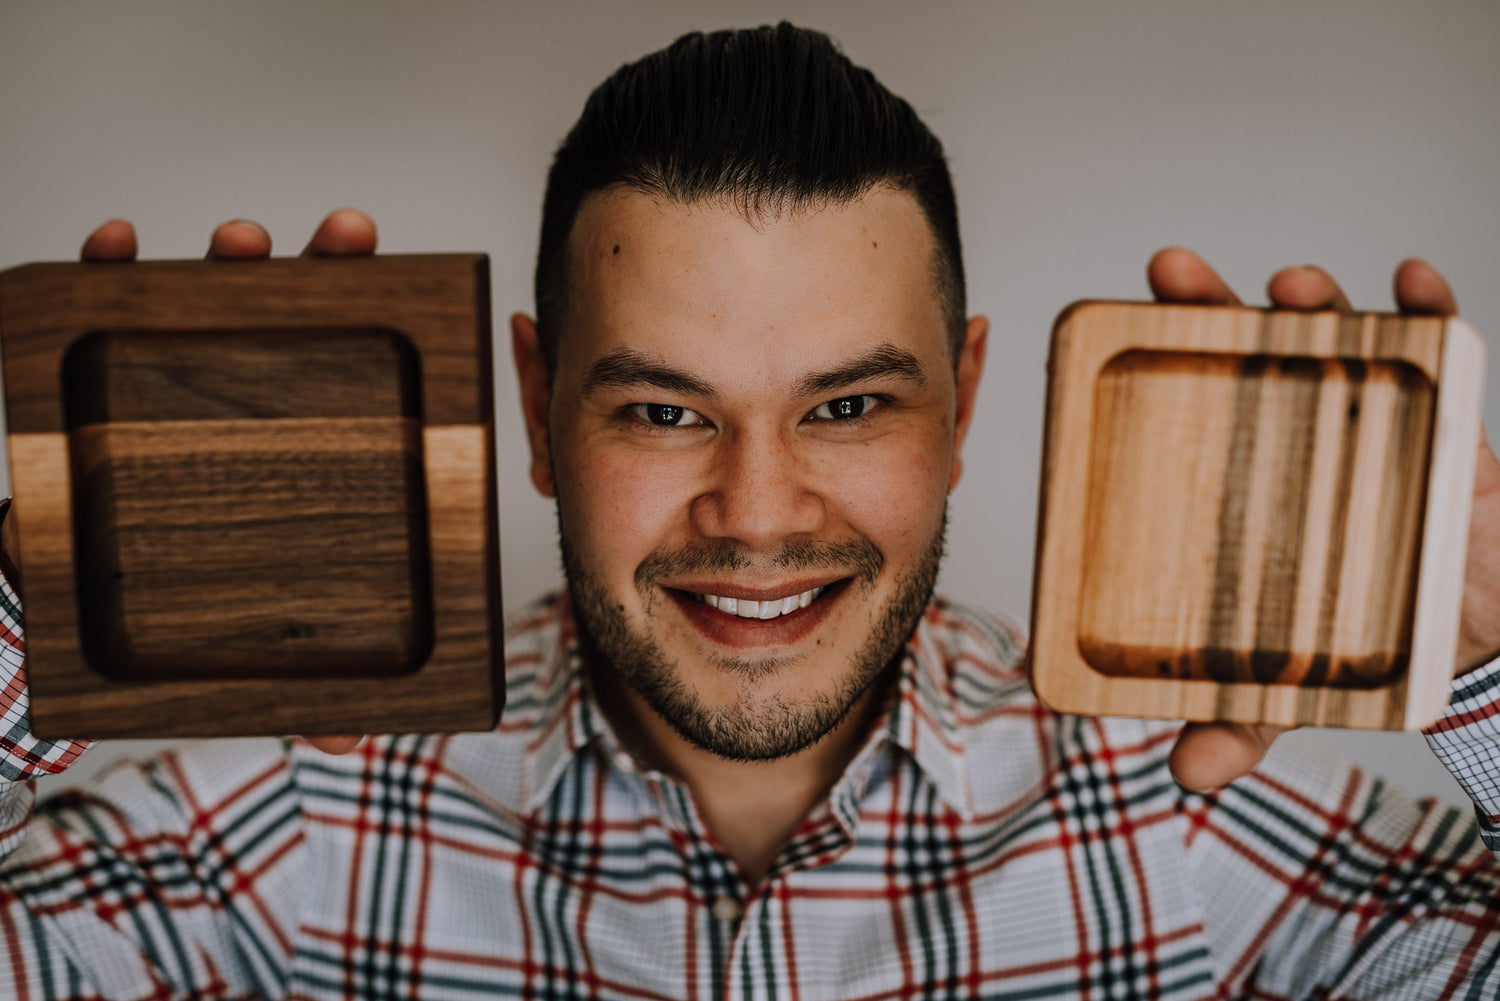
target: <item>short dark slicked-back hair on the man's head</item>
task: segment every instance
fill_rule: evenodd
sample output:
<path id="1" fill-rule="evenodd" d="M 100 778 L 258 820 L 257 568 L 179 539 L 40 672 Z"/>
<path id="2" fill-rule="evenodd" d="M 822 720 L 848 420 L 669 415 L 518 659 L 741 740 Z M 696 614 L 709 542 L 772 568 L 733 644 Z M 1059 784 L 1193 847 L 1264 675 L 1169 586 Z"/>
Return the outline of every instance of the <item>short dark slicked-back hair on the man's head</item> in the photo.
<path id="1" fill-rule="evenodd" d="M 826 35 L 694 32 L 621 66 L 562 140 L 542 203 L 537 329 L 548 371 L 567 311 L 568 239 L 584 201 L 615 186 L 676 203 L 729 200 L 747 216 L 908 191 L 932 225 L 952 357 L 963 338 L 958 210 L 938 137 Z"/>

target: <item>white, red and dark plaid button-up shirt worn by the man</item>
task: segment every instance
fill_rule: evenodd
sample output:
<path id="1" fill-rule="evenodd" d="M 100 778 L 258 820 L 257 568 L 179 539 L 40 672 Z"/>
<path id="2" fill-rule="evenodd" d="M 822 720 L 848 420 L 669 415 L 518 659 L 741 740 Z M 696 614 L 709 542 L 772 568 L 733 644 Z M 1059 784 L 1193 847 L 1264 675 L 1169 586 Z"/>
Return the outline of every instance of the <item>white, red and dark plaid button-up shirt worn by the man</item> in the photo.
<path id="1" fill-rule="evenodd" d="M 0 602 L 0 768 L 26 729 Z M 508 636 L 495 732 L 327 756 L 225 740 L 32 816 L 0 798 L 15 998 L 1492 998 L 1500 669 L 1431 740 L 1480 824 L 1336 759 L 1272 752 L 1212 794 L 1167 723 L 1054 716 L 1017 633 L 936 603 L 882 723 L 746 885 L 688 791 L 633 761 L 564 599 Z M 1484 834 L 1480 831 L 1485 831 Z M 1466 984 L 1466 986 L 1461 986 Z M 0 987 L 3 992 L 6 987 Z"/>

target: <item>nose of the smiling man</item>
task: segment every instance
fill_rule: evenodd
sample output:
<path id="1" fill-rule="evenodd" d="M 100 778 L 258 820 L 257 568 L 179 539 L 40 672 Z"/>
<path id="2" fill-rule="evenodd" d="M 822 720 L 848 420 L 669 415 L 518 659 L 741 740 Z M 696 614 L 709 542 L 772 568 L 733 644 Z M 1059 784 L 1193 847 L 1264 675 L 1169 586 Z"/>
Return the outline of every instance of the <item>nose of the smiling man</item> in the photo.
<path id="1" fill-rule="evenodd" d="M 816 470 L 796 441 L 778 434 L 726 435 L 710 462 L 692 509 L 693 527 L 705 537 L 772 549 L 822 531 L 826 507 Z"/>

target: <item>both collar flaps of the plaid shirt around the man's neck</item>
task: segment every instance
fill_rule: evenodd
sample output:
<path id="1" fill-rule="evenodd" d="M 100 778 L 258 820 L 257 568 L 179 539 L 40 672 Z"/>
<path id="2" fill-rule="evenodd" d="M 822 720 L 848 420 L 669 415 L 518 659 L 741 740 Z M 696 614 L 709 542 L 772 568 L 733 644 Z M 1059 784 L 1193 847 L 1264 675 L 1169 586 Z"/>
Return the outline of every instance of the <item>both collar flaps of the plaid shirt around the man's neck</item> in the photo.
<path id="1" fill-rule="evenodd" d="M 594 747 L 615 762 L 628 758 L 588 684 L 572 602 L 566 593 L 552 600 L 556 642 L 549 669 L 536 675 L 540 711 L 530 720 L 519 789 L 519 804 L 526 813 L 546 803 L 562 773 L 585 747 Z M 968 818 L 974 813 L 969 771 L 950 684 L 948 654 L 933 629 L 938 615 L 936 605 L 928 608 L 908 641 L 894 698 L 888 699 L 885 719 L 876 725 L 876 732 L 879 740 L 910 755 L 938 795 Z M 862 792 L 861 776 L 867 768 L 858 765 L 864 761 L 866 755 L 860 755 L 850 773 L 837 783 L 836 798 L 838 791 L 848 792 L 844 786 L 850 783 L 858 783 Z"/>

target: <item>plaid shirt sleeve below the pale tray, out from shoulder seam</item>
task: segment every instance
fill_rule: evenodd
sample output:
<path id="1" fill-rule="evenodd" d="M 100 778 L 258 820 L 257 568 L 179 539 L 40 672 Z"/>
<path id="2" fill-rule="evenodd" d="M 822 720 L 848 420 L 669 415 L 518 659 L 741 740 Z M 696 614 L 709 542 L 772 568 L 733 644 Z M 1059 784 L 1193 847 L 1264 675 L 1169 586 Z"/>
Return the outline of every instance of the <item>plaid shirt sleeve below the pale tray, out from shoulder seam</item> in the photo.
<path id="1" fill-rule="evenodd" d="M 1390 1001 L 1500 993 L 1500 861 L 1466 810 L 1412 800 L 1312 741 L 1276 744 L 1250 776 L 1184 803 L 1227 987 Z"/>

